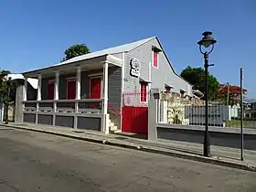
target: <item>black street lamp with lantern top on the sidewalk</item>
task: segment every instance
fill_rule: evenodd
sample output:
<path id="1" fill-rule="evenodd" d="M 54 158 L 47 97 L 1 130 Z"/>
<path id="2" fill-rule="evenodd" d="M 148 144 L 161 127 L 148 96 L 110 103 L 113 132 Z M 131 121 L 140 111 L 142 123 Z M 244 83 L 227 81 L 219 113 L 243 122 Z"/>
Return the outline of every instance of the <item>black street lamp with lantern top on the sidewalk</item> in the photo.
<path id="1" fill-rule="evenodd" d="M 214 44 L 217 42 L 213 37 L 211 37 L 212 32 L 205 31 L 203 34 L 203 37 L 200 41 L 197 42 L 199 45 L 200 52 L 204 55 L 205 59 L 205 101 L 206 101 L 206 130 L 205 130 L 205 136 L 204 136 L 204 156 L 210 156 L 210 137 L 208 133 L 208 67 L 213 66 L 213 64 L 208 64 L 208 55 L 212 52 L 214 48 Z M 210 48 L 209 51 L 202 51 L 202 46 L 205 48 Z"/>

